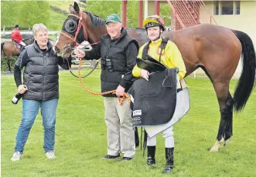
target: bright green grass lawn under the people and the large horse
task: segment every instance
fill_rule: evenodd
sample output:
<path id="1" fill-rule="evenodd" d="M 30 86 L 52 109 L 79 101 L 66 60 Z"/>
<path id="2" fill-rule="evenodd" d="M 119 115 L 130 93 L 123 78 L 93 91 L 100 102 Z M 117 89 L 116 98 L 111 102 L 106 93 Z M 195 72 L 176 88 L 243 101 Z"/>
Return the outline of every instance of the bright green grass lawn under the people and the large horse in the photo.
<path id="1" fill-rule="evenodd" d="M 88 70 L 83 70 L 84 73 Z M 100 91 L 100 70 L 84 79 L 92 91 Z M 101 96 L 88 95 L 77 78 L 60 72 L 60 100 L 56 115 L 56 159 L 43 152 L 43 125 L 39 114 L 29 135 L 24 155 L 11 162 L 15 135 L 19 128 L 22 102 L 12 105 L 15 92 L 12 75 L 2 76 L 2 176 L 166 176 L 164 139 L 158 135 L 155 167 L 145 164 L 137 149 L 130 162 L 102 160 L 106 155 L 106 126 Z M 207 78 L 186 78 L 191 108 L 174 127 L 175 166 L 172 176 L 256 176 L 256 89 L 242 113 L 234 113 L 234 137 L 220 152 L 210 153 L 215 142 L 220 115 L 215 92 Z M 234 92 L 236 80 L 231 82 Z M 139 129 L 140 130 L 140 129 Z"/>

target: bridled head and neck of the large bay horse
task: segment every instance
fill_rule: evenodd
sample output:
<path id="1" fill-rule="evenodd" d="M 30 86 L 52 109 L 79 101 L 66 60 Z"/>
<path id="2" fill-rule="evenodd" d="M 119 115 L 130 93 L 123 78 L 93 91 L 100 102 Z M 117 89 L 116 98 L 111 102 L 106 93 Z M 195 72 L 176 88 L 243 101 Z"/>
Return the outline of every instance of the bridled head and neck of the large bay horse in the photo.
<path id="1" fill-rule="evenodd" d="M 57 55 L 68 57 L 73 48 L 84 41 L 89 42 L 90 45 L 97 44 L 104 33 L 106 33 L 104 20 L 90 12 L 80 12 L 79 5 L 74 2 L 70 5 L 70 14 L 63 23 L 54 49 Z"/>

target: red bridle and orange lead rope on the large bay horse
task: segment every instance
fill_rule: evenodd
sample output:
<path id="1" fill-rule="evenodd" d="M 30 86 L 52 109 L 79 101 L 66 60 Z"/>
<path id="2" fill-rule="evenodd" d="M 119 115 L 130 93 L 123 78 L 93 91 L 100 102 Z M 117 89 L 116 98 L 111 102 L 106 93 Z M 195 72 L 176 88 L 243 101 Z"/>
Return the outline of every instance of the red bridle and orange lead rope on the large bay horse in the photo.
<path id="1" fill-rule="evenodd" d="M 77 16 L 77 15 L 74 15 L 74 14 L 70 14 L 70 15 L 73 15 L 73 16 L 79 18 L 79 23 L 78 23 L 78 28 L 77 28 L 76 35 L 73 37 L 72 35 L 68 34 L 67 32 L 63 32 L 63 31 L 61 31 L 60 34 L 65 35 L 67 38 L 70 38 L 73 42 L 75 42 L 75 47 L 76 47 L 76 46 L 78 46 L 78 45 L 82 45 L 82 44 L 77 44 L 77 35 L 78 35 L 78 33 L 80 32 L 80 28 L 81 28 L 82 26 L 84 27 L 84 25 L 81 23 L 81 21 L 82 21 L 82 12 L 80 12 L 80 16 Z M 85 37 L 85 40 L 87 41 L 88 35 L 87 35 L 87 31 L 86 31 L 85 28 L 84 28 L 84 37 Z M 100 41 L 100 42 L 101 42 L 101 41 Z M 90 45 L 96 45 L 96 44 L 98 44 L 98 43 L 99 43 L 99 42 L 95 42 L 95 43 L 90 44 Z M 68 47 L 71 48 L 70 44 L 68 45 Z M 73 49 L 73 48 L 71 48 L 71 49 Z M 69 69 L 70 69 L 70 64 L 69 64 L 69 62 L 68 62 L 68 58 L 67 58 L 67 63 L 68 63 L 68 67 L 69 67 Z M 73 72 L 71 72 L 71 70 L 70 70 L 70 73 L 71 73 L 73 76 L 79 78 L 80 84 L 82 85 L 83 89 L 84 89 L 87 93 L 89 93 L 89 94 L 91 94 L 91 95 L 116 94 L 116 92 L 117 92 L 116 90 L 111 90 L 111 91 L 108 91 L 108 92 L 91 92 L 89 89 L 87 89 L 87 88 L 85 87 L 84 82 L 82 81 L 82 78 L 85 78 L 85 77 L 87 77 L 88 75 L 90 75 L 90 73 L 93 72 L 95 68 L 97 68 L 97 64 L 98 64 L 98 63 L 99 63 L 99 62 L 97 61 L 96 65 L 94 65 L 94 68 L 93 68 L 87 75 L 85 75 L 85 76 L 82 77 L 82 76 L 81 76 L 81 73 L 80 73 L 80 68 L 81 68 L 81 64 L 82 64 L 82 58 L 79 58 L 78 77 L 77 77 L 77 75 L 74 75 Z M 123 95 L 121 98 L 118 96 L 118 101 L 119 101 L 119 104 L 120 104 L 120 105 L 122 105 L 122 103 L 124 102 L 125 98 L 128 99 L 128 102 L 129 102 L 129 103 L 131 102 L 130 96 L 129 96 L 127 93 L 124 93 L 124 95 Z"/>

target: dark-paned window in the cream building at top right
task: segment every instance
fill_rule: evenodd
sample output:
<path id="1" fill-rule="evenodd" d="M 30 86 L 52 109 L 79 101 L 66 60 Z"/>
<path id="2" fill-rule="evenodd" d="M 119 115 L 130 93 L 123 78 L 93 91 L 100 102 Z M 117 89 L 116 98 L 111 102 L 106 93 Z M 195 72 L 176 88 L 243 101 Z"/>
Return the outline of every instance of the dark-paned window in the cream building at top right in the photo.
<path id="1" fill-rule="evenodd" d="M 214 15 L 240 15 L 240 1 L 214 1 Z"/>

